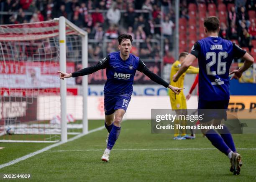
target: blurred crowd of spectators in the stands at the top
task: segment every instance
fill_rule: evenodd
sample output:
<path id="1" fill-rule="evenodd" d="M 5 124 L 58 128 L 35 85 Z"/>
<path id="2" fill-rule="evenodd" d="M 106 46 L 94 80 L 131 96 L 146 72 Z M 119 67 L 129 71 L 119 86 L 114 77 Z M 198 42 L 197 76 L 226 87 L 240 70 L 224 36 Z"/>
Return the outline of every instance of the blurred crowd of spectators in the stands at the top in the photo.
<path id="1" fill-rule="evenodd" d="M 3 24 L 16 24 L 52 20 L 64 16 L 89 33 L 89 58 L 98 60 L 105 53 L 117 50 L 116 38 L 120 33 L 132 35 L 134 43 L 131 53 L 141 58 L 161 58 L 163 38 L 163 60 L 174 62 L 175 13 L 173 0 L 1 0 Z M 189 4 L 234 4 L 226 9 L 227 20 L 221 22 L 220 37 L 237 40 L 241 47 L 253 47 L 256 38 L 256 0 L 180 0 L 180 18 L 189 20 Z M 161 11 L 161 8 L 163 11 Z M 30 13 L 30 14 L 29 14 Z M 163 18 L 161 18 L 163 15 Z M 162 26 L 162 32 L 161 32 Z M 161 36 L 162 33 L 162 36 Z M 185 40 L 187 41 L 187 40 Z M 187 43 L 186 43 L 187 44 Z M 187 44 L 189 45 L 189 44 Z M 187 46 L 189 49 L 189 46 Z"/>

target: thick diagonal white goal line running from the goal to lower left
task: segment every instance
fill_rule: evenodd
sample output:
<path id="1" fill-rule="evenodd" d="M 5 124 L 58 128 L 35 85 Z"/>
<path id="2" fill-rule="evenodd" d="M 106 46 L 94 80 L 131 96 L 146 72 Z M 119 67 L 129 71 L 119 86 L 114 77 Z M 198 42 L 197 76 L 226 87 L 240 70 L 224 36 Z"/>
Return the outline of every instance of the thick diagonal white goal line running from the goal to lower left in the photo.
<path id="1" fill-rule="evenodd" d="M 78 138 L 80 138 L 80 137 L 83 137 L 84 135 L 88 135 L 88 134 L 90 134 L 90 133 L 97 132 L 97 131 L 99 131 L 99 130 L 102 130 L 103 128 L 105 128 L 105 126 L 101 126 L 101 127 L 95 128 L 95 129 L 90 130 L 89 132 L 87 132 L 87 133 L 85 133 L 85 134 L 80 134 L 80 135 L 77 135 L 77 136 L 75 136 L 75 137 L 72 137 L 72 138 L 69 139 L 67 142 L 71 142 L 71 141 L 76 140 L 76 139 L 78 139 Z M 8 163 L 2 164 L 2 165 L 0 165 L 0 169 L 2 169 L 3 167 L 7 167 L 7 166 L 13 165 L 13 164 L 15 164 L 15 163 L 18 163 L 18 162 L 20 162 L 20 161 L 26 160 L 26 159 L 28 159 L 29 157 L 33 157 L 33 156 L 35 156 L 35 155 L 37 155 L 37 154 L 40 154 L 40 153 L 45 152 L 45 151 L 47 151 L 47 150 L 50 150 L 51 148 L 57 147 L 57 146 L 59 146 L 59 145 L 61 145 L 61 144 L 64 144 L 64 143 L 65 143 L 65 142 L 55 143 L 54 145 L 47 146 L 47 147 L 45 147 L 45 148 L 43 148 L 43 149 L 41 149 L 41 150 L 38 150 L 38 151 L 33 152 L 33 153 L 30 153 L 30 154 L 25 155 L 25 156 L 23 156 L 23 157 L 20 157 L 20 158 L 18 158 L 18 159 L 12 160 L 12 161 L 10 161 L 10 162 L 8 162 Z"/>

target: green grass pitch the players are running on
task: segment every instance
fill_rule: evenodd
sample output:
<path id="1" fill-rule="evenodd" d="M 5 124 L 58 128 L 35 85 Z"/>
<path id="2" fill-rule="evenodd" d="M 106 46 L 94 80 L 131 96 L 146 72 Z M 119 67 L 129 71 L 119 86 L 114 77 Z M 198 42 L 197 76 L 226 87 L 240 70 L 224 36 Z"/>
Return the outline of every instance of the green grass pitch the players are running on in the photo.
<path id="1" fill-rule="evenodd" d="M 94 125 L 90 122 L 90 125 Z M 95 125 L 100 123 L 95 122 Z M 110 161 L 100 161 L 105 149 L 106 130 L 52 148 L 0 169 L 2 174 L 31 174 L 33 181 L 255 181 L 256 150 L 238 150 L 243 157 L 241 175 L 229 172 L 228 158 L 218 150 L 123 150 L 163 148 L 213 148 L 197 135 L 195 140 L 172 140 L 173 135 L 151 134 L 149 120 L 129 120 L 122 124 L 121 134 L 110 154 Z M 256 134 L 233 135 L 238 148 L 256 148 Z M 5 146 L 3 146 L 5 145 Z M 3 144 L 0 163 L 26 155 L 49 144 Z M 23 145 L 23 146 L 22 146 Z M 33 147 L 35 146 L 35 147 Z M 31 148 L 31 151 L 28 151 Z M 72 150 L 100 151 L 72 151 Z M 15 151 L 13 151 L 15 150 Z M 22 152 L 26 150 L 26 152 Z M 67 150 L 54 152 L 56 150 Z M 13 156 L 18 153 L 18 156 Z M 21 154 L 20 154 L 21 153 Z M 5 157 L 2 157 L 2 154 Z"/>

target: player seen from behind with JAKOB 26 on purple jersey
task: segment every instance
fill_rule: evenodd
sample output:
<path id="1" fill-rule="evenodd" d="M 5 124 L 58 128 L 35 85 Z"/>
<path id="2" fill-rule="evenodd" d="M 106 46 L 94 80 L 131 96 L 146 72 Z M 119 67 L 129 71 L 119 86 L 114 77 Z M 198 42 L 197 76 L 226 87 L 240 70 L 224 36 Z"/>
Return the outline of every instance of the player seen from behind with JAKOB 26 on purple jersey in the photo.
<path id="1" fill-rule="evenodd" d="M 205 18 L 204 26 L 207 37 L 195 43 L 191 53 L 187 55 L 182 62 L 182 66 L 177 72 L 177 75 L 174 75 L 173 80 L 177 81 L 192 62 L 198 58 L 198 109 L 223 109 L 222 115 L 212 117 L 204 123 L 205 125 L 219 125 L 223 118 L 226 119 L 226 109 L 228 108 L 228 75 L 234 74 L 231 80 L 233 78 L 239 79 L 243 72 L 251 67 L 254 59 L 246 51 L 238 47 L 238 45 L 218 37 L 220 27 L 217 17 L 212 16 Z M 245 62 L 238 70 L 228 73 L 233 58 L 235 57 L 242 58 Z M 228 128 L 224 125 L 223 129 L 218 130 L 220 135 L 213 129 L 202 130 L 202 132 L 213 146 L 228 156 L 231 162 L 230 172 L 233 172 L 234 175 L 239 175 L 242 165 L 241 155 L 236 152 L 236 147 Z"/>

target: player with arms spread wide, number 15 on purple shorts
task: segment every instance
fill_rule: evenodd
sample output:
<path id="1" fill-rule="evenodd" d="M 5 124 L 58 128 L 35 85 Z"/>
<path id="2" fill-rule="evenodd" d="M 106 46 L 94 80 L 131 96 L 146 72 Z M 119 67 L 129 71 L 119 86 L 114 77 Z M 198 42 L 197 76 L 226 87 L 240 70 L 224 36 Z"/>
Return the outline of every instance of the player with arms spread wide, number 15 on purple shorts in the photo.
<path id="1" fill-rule="evenodd" d="M 158 75 L 151 72 L 139 57 L 131 54 L 131 35 L 122 34 L 118 37 L 120 51 L 112 52 L 96 65 L 84 68 L 73 73 L 60 73 L 60 78 L 78 77 L 89 75 L 100 69 L 107 69 L 107 82 L 104 87 L 105 127 L 108 130 L 107 148 L 101 157 L 108 162 L 110 150 L 118 139 L 121 130 L 121 122 L 133 92 L 133 78 L 136 70 L 143 72 L 154 82 L 168 87 L 174 93 L 179 94 L 183 88 L 169 85 Z"/>

